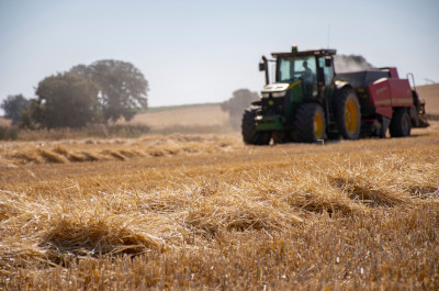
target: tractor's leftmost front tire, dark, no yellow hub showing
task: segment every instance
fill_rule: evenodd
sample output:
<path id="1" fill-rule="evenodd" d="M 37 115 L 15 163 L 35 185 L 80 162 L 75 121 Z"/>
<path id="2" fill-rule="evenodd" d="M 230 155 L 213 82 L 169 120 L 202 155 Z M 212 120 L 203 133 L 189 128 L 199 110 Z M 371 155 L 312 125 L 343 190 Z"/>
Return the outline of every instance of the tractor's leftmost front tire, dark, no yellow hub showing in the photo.
<path id="1" fill-rule="evenodd" d="M 268 145 L 270 144 L 271 133 L 256 130 L 257 110 L 257 107 L 249 107 L 244 111 L 241 123 L 243 139 L 247 145 Z"/>

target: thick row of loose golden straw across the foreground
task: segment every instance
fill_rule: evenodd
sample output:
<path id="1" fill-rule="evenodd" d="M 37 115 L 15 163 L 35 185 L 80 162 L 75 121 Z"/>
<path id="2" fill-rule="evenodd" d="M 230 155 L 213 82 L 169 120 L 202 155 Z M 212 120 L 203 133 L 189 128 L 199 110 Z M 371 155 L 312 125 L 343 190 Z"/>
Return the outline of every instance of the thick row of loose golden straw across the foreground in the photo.
<path id="1" fill-rule="evenodd" d="M 78 193 L 75 200 L 0 191 L 1 245 L 9 246 L 0 249 L 0 257 L 60 264 L 70 257 L 164 251 L 206 245 L 224 231 L 272 233 L 313 223 L 322 214 L 354 216 L 438 198 L 436 189 L 427 191 L 439 183 L 437 176 L 423 175 L 418 187 L 427 186 L 426 197 L 416 197 L 410 179 L 394 184 L 395 177 L 413 176 L 415 166 L 384 175 L 386 168 L 376 170 L 380 165 L 379 159 L 375 168 L 335 167 L 325 175 L 269 170 L 232 183 L 181 177 L 175 189 L 115 188 L 114 193 Z M 439 170 L 435 163 L 424 165 Z M 0 264 L 7 268 L 11 261 Z"/>

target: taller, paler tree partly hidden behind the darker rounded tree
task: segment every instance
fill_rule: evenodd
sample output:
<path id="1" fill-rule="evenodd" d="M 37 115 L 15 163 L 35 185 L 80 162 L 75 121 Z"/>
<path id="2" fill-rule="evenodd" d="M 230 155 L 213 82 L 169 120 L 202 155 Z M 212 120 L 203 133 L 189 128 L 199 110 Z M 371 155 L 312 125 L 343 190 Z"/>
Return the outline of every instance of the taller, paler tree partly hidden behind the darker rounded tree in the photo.
<path id="1" fill-rule="evenodd" d="M 75 66 L 70 71 L 99 87 L 104 122 L 116 121 L 121 116 L 130 121 L 139 109 L 147 108 L 148 82 L 131 63 L 103 59 L 89 66 Z"/>

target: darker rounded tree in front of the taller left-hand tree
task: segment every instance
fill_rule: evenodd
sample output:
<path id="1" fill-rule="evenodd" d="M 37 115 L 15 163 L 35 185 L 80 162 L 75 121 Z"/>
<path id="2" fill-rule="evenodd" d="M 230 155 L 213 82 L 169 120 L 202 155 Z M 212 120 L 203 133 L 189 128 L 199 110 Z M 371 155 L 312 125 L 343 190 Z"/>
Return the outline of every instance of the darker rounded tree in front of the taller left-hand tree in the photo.
<path id="1" fill-rule="evenodd" d="M 72 72 L 45 78 L 30 104 L 30 116 L 44 127 L 82 127 L 98 119 L 98 87 Z"/>

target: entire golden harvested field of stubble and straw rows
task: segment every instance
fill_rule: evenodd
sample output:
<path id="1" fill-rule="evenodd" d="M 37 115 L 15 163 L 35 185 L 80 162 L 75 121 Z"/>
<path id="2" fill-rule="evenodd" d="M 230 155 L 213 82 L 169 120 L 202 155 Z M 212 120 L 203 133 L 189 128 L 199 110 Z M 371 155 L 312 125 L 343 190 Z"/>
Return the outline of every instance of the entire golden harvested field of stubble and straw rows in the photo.
<path id="1" fill-rule="evenodd" d="M 439 123 L 414 135 L 2 143 L 0 289 L 438 289 Z"/>

